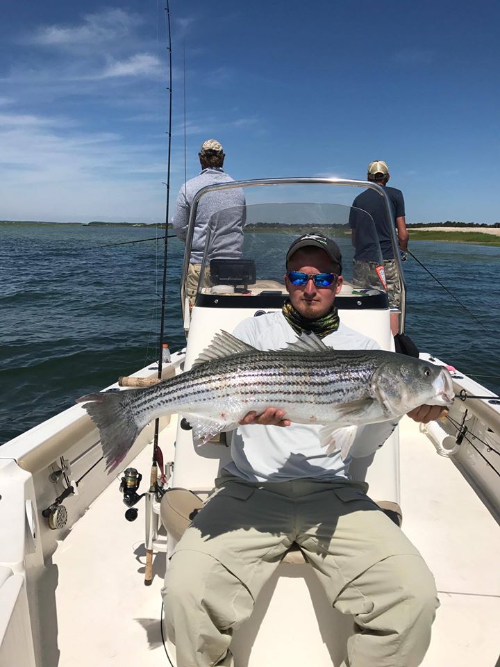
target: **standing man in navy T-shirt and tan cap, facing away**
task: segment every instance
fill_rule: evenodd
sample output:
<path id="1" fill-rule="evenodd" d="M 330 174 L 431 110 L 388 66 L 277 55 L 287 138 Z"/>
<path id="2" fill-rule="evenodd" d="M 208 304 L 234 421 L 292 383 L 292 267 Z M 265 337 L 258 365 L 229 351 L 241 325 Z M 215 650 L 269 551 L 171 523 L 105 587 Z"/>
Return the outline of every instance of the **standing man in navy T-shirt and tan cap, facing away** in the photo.
<path id="1" fill-rule="evenodd" d="M 389 167 L 383 162 L 383 160 L 375 160 L 374 162 L 369 163 L 368 181 L 374 181 L 378 186 L 385 188 L 387 195 L 392 204 L 392 211 L 394 213 L 394 220 L 396 222 L 397 228 L 397 237 L 399 242 L 400 250 L 408 250 L 408 230 L 406 229 L 406 218 L 405 218 L 405 208 L 404 208 L 404 199 L 403 193 L 401 190 L 396 188 L 388 188 L 387 181 L 390 179 Z M 365 190 L 361 192 L 356 199 L 354 199 L 352 206 L 354 208 L 361 208 L 363 211 L 367 211 L 369 215 L 372 216 L 375 223 L 376 232 L 378 234 L 378 241 L 380 242 L 380 247 L 382 251 L 383 265 L 385 269 L 385 279 L 387 281 L 387 293 L 389 295 L 389 304 L 393 308 L 399 308 L 401 305 L 401 284 L 399 282 L 399 277 L 396 270 L 396 263 L 394 261 L 394 251 L 392 249 L 392 240 L 391 232 L 387 227 L 387 220 L 385 218 L 385 206 L 383 199 L 378 192 L 374 190 Z M 356 245 L 356 241 L 353 238 L 353 243 Z M 354 256 L 354 274 L 365 274 L 366 265 L 368 259 L 365 256 L 360 256 L 360 253 L 357 252 Z M 376 272 L 370 272 L 370 275 L 373 274 L 375 285 L 377 284 L 377 275 Z M 366 278 L 366 276 L 365 276 Z M 398 313 L 391 313 L 391 331 L 392 335 L 395 336 L 398 333 L 399 329 L 399 315 Z"/>

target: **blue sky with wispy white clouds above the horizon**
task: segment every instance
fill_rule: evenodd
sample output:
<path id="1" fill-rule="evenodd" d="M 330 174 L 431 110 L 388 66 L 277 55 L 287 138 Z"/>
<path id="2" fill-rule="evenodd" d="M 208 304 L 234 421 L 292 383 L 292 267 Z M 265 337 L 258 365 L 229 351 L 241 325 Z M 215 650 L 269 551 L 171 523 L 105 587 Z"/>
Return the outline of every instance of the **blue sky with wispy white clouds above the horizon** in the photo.
<path id="1" fill-rule="evenodd" d="M 408 222 L 500 222 L 500 4 L 172 0 L 172 190 L 214 137 L 235 179 L 365 178 Z M 2 0 L 0 219 L 162 222 L 159 0 Z"/>

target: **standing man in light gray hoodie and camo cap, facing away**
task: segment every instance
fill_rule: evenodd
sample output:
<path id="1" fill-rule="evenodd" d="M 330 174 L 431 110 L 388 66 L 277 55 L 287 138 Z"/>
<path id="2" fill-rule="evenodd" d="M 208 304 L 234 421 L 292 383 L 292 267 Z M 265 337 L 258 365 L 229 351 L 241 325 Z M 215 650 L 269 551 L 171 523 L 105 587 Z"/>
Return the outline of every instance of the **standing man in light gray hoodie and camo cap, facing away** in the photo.
<path id="1" fill-rule="evenodd" d="M 188 222 L 194 196 L 206 186 L 214 183 L 234 181 L 222 169 L 224 149 L 215 139 L 207 139 L 201 145 L 199 160 L 201 173 L 187 181 L 178 193 L 172 225 L 182 241 L 186 240 Z M 211 220 L 213 218 L 213 220 Z M 210 222 L 211 220 L 211 222 Z M 242 188 L 215 190 L 203 195 L 199 200 L 196 222 L 192 237 L 187 288 L 190 303 L 194 303 L 197 293 L 201 262 L 205 249 L 206 235 L 210 224 L 210 259 L 240 259 L 243 245 L 243 225 L 245 222 L 245 198 Z M 205 270 L 204 283 L 208 282 L 208 267 Z"/>

